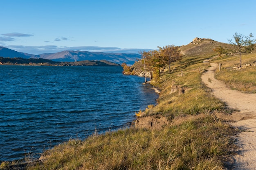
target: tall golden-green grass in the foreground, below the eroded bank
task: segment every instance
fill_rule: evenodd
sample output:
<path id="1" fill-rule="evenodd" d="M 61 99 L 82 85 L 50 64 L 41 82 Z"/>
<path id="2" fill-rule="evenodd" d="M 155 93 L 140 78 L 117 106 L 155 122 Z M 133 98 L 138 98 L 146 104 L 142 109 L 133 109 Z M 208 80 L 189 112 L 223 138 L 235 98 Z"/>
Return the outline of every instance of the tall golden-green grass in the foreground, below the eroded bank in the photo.
<path id="1" fill-rule="evenodd" d="M 234 133 L 228 124 L 203 114 L 161 131 L 123 129 L 70 140 L 47 151 L 43 164 L 29 169 L 223 169 Z"/>

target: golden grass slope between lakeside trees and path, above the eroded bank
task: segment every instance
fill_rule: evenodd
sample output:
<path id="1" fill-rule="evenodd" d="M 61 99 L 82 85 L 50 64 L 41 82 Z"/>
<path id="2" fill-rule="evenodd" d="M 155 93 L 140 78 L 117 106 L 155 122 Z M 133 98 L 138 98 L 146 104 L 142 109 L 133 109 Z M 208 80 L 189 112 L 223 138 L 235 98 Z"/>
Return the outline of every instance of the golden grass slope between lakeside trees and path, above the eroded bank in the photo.
<path id="1" fill-rule="evenodd" d="M 230 112 L 225 104 L 210 95 L 210 89 L 201 83 L 201 72 L 208 67 L 208 63 L 202 63 L 205 58 L 195 58 L 195 64 L 186 62 L 193 61 L 193 57 L 186 57 L 183 63 L 183 76 L 179 70 L 166 73 L 160 78 L 159 87 L 162 89 L 158 99 L 158 105 L 152 109 L 146 109 L 143 116 L 162 114 L 172 120 L 179 115 L 196 115 L 199 113 L 213 113 L 214 111 Z M 198 63 L 200 61 L 200 63 Z M 186 67 L 185 67 L 186 66 Z"/>

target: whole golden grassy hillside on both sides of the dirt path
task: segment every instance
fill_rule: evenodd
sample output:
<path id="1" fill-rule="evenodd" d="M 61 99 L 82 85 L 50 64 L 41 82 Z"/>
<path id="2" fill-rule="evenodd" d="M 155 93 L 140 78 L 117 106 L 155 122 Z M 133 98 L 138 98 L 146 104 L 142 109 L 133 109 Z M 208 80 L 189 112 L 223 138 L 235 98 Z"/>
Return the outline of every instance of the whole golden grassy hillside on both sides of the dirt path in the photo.
<path id="1" fill-rule="evenodd" d="M 232 110 L 212 96 L 200 78 L 209 67 L 202 61 L 216 56 L 212 48 L 220 45 L 229 46 L 202 39 L 180 47 L 184 55 L 182 61 L 173 63 L 171 72 L 164 72 L 152 82 L 161 90 L 157 105 L 140 112 L 134 126 L 103 135 L 95 133 L 85 141 L 70 139 L 46 150 L 40 161 L 31 163 L 31 157 L 26 157 L 23 166 L 27 169 L 99 170 L 230 168 L 231 156 L 236 154 L 233 136 L 239 130 L 216 116 L 216 113 L 229 115 Z M 252 70 L 247 79 L 255 86 L 256 52 L 243 55 L 243 60 L 252 66 L 236 70 L 238 57 L 223 54 L 215 58 L 214 62 L 222 63 L 217 77 L 228 75 L 231 80 L 227 82 L 232 84 L 232 77 Z M 181 69 L 183 76 L 180 76 Z M 247 80 L 240 76 L 236 81 L 243 84 Z M 144 124 L 144 128 L 139 128 L 140 124 Z M 3 162 L 0 168 L 15 165 L 16 162 Z"/>

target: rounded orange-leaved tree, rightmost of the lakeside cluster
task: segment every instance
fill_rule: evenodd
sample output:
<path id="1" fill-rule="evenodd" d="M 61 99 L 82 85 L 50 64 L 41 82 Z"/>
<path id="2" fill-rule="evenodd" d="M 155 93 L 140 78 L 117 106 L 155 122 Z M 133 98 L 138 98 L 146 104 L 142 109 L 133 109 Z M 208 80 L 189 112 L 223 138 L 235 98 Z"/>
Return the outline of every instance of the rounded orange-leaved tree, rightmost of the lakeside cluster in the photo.
<path id="1" fill-rule="evenodd" d="M 181 55 L 180 55 L 180 49 L 178 46 L 174 46 L 174 45 L 168 45 L 165 47 L 158 47 L 159 51 L 161 52 L 161 54 L 164 57 L 164 60 L 167 61 L 168 65 L 169 65 L 169 71 L 171 72 L 171 62 L 177 61 L 181 59 Z"/>

